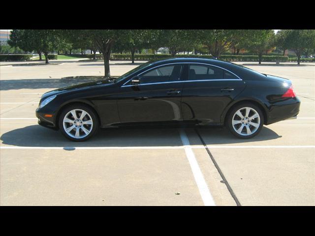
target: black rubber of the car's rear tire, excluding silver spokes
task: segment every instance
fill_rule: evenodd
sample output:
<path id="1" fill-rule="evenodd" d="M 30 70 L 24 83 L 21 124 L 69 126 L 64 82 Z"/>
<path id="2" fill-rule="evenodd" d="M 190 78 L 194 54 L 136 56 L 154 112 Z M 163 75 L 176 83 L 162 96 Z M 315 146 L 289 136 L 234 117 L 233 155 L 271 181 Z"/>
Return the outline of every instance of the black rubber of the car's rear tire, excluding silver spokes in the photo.
<path id="1" fill-rule="evenodd" d="M 250 114 L 254 114 L 254 111 L 256 111 L 257 113 L 258 113 L 258 115 L 259 115 L 259 126 L 258 126 L 258 128 L 256 128 L 255 126 L 253 126 L 251 123 L 249 123 L 249 119 L 247 119 L 247 118 L 244 118 L 244 119 L 246 119 L 246 123 L 244 123 L 245 122 L 245 120 L 242 120 L 242 118 L 241 117 L 239 117 L 239 116 L 235 116 L 235 119 L 237 118 L 241 118 L 241 120 L 236 120 L 236 121 L 241 121 L 242 123 L 240 123 L 240 124 L 235 124 L 234 125 L 234 127 L 235 127 L 235 129 L 237 129 L 237 128 L 240 128 L 241 129 L 241 133 L 242 134 L 239 134 L 235 129 L 234 129 L 234 127 L 233 127 L 233 124 L 232 124 L 232 121 L 233 121 L 233 117 L 234 117 L 234 115 L 235 115 L 235 113 L 238 111 L 238 110 L 240 110 L 241 108 L 245 108 L 245 107 L 248 107 L 248 108 L 252 108 L 253 110 L 250 110 L 251 111 L 251 113 Z M 242 113 L 243 112 L 243 113 Z M 244 109 L 244 110 L 241 110 L 241 114 L 243 115 L 244 114 L 244 112 L 246 113 L 246 109 Z M 251 116 L 249 116 L 249 117 L 251 117 Z M 258 118 L 255 118 L 255 119 L 252 119 L 251 121 L 253 122 L 253 124 L 255 125 L 256 123 L 258 124 Z M 244 128 L 242 128 L 241 127 L 241 125 L 245 125 L 244 126 Z M 252 137 L 254 137 L 254 136 L 256 136 L 260 131 L 261 131 L 261 129 L 262 129 L 262 126 L 263 126 L 263 124 L 264 124 L 264 116 L 263 116 L 263 113 L 262 113 L 262 111 L 261 111 L 261 109 L 258 107 L 258 106 L 256 106 L 256 105 L 254 105 L 254 104 L 252 104 L 252 103 L 241 103 L 241 104 L 238 104 L 238 105 L 235 105 L 234 107 L 232 107 L 232 109 L 230 110 L 230 112 L 228 113 L 228 117 L 227 117 L 227 121 L 226 121 L 226 126 L 227 126 L 227 128 L 230 130 L 230 132 L 233 134 L 233 135 L 235 135 L 236 137 L 238 137 L 238 138 L 241 138 L 241 139 L 250 139 L 250 138 L 252 138 Z M 252 133 L 252 134 L 247 134 L 247 128 L 248 127 L 250 128 L 250 129 L 252 129 L 254 132 Z M 252 131 L 251 130 L 251 131 Z M 250 132 L 249 132 L 250 133 Z"/>

